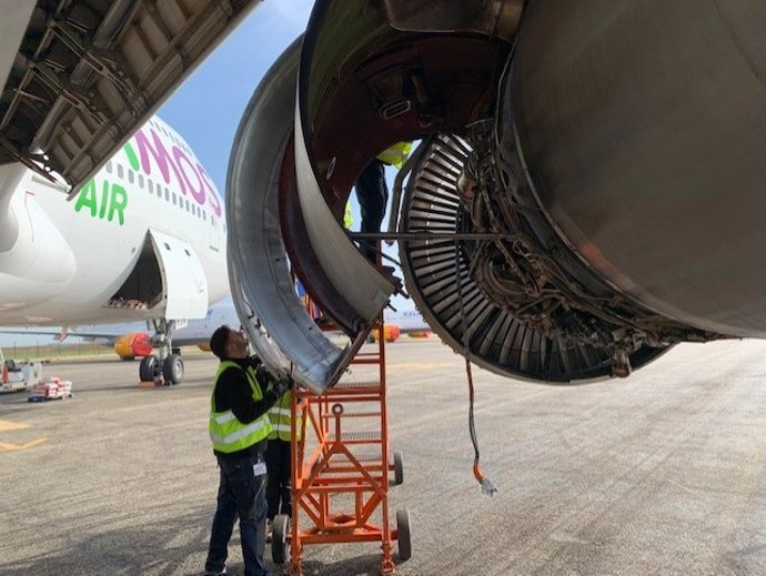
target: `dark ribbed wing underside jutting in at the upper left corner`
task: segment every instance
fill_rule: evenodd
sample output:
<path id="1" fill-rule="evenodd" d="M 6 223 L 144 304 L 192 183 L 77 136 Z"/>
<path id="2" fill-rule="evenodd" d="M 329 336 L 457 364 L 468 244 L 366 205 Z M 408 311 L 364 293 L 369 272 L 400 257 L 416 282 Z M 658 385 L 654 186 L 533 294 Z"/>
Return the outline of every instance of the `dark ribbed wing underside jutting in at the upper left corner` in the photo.
<path id="1" fill-rule="evenodd" d="M 77 190 L 261 0 L 0 0 L 0 165 Z"/>

